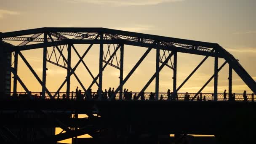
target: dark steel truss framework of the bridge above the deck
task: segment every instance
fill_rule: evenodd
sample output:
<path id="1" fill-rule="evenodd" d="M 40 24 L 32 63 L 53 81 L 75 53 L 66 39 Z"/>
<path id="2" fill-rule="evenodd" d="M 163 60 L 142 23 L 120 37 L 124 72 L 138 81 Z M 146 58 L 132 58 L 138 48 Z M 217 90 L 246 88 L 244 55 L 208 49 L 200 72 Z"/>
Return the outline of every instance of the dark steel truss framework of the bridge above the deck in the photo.
<path id="1" fill-rule="evenodd" d="M 45 93 L 50 97 L 55 97 L 57 93 L 61 90 L 65 83 L 67 83 L 67 96 L 70 92 L 70 76 L 74 75 L 78 83 L 85 91 L 96 84 L 99 89 L 102 89 L 102 74 L 107 65 L 115 67 L 120 70 L 120 85 L 115 90 L 116 93 L 120 93 L 122 96 L 123 85 L 131 77 L 133 72 L 139 67 L 141 62 L 145 59 L 147 54 L 152 50 L 156 49 L 156 70 L 155 74 L 149 79 L 146 85 L 141 89 L 141 93 L 146 90 L 146 88 L 155 79 L 155 93 L 158 99 L 158 89 L 159 89 L 159 72 L 164 66 L 167 66 L 173 70 L 173 94 L 177 93 L 180 88 L 189 80 L 189 78 L 197 71 L 197 69 L 204 63 L 208 57 L 214 57 L 214 75 L 203 85 L 203 87 L 195 95 L 197 96 L 203 88 L 214 79 L 214 100 L 217 100 L 217 90 L 218 90 L 218 72 L 224 67 L 225 64 L 229 64 L 229 94 L 232 93 L 232 70 L 241 77 L 246 85 L 256 93 L 256 83 L 252 77 L 243 69 L 243 67 L 237 62 L 237 60 L 224 48 L 216 43 L 205 43 L 194 40 L 184 40 L 172 37 L 162 37 L 156 35 L 147 35 L 136 32 L 126 32 L 114 29 L 106 28 L 38 28 L 38 29 L 28 29 L 16 32 L 5 32 L 0 34 L 1 47 L 4 48 L 5 52 L 12 52 L 14 57 L 14 62 L 11 65 L 10 71 L 14 75 L 13 80 L 13 92 L 16 93 L 17 81 L 21 84 L 24 90 L 29 93 L 28 88 L 25 83 L 17 75 L 18 67 L 18 56 L 25 62 L 27 67 L 33 73 L 35 78 L 38 80 L 40 85 L 42 85 L 42 96 L 45 97 Z M 21 41 L 19 45 L 9 45 L 9 41 Z M 33 44 L 29 44 L 33 42 Z M 80 55 L 80 53 L 75 48 L 74 44 L 90 44 L 86 51 Z M 83 58 L 86 56 L 88 51 L 92 48 L 94 44 L 99 44 L 99 74 L 93 76 L 90 69 L 87 67 Z M 104 45 L 107 46 L 107 51 L 104 51 Z M 126 77 L 123 77 L 123 53 L 124 45 L 133 45 L 139 47 L 147 48 L 147 51 L 141 56 L 139 61 L 131 69 Z M 49 50 L 49 47 L 53 47 Z M 36 48 L 43 48 L 43 77 L 40 79 L 35 70 L 23 56 L 22 51 L 31 50 Z M 67 57 L 62 53 L 64 48 L 67 48 Z M 71 49 L 75 51 L 75 54 L 79 57 L 79 61 L 75 67 L 71 67 Z M 120 51 L 118 53 L 117 51 Z M 160 53 L 161 51 L 161 53 Z M 59 53 L 59 56 L 56 56 Z M 188 75 L 179 87 L 176 85 L 177 77 L 177 53 L 190 53 L 196 55 L 205 56 L 205 58 L 198 64 L 198 66 Z M 119 54 L 119 56 L 117 56 Z M 118 58 L 118 59 L 117 59 Z M 173 59 L 172 59 L 173 58 Z M 221 67 L 218 67 L 219 58 L 225 60 Z M 46 65 L 47 62 L 55 64 L 59 67 L 67 69 L 67 77 L 60 85 L 59 89 L 54 95 L 52 95 L 46 88 Z M 77 66 L 82 63 L 88 73 L 91 75 L 93 81 L 88 88 L 85 88 L 83 83 L 77 77 L 75 70 Z M 13 66 L 14 65 L 14 66 Z M 99 81 L 98 81 L 99 79 Z M 195 98 L 193 97 L 193 99 Z M 122 97 L 121 97 L 122 98 Z M 113 98 L 114 99 L 114 98 Z"/>

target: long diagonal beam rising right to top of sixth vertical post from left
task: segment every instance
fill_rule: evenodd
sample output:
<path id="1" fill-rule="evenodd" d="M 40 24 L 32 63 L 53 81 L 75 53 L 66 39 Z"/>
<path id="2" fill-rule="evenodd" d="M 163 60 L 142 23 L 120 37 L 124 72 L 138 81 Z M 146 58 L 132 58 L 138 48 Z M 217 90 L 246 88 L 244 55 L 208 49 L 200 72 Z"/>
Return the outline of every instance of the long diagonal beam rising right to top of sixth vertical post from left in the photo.
<path id="1" fill-rule="evenodd" d="M 153 45 L 156 45 L 156 42 L 153 43 Z M 139 65 L 141 64 L 141 62 L 145 59 L 145 57 L 147 56 L 147 54 L 152 50 L 153 47 L 150 47 L 147 49 L 147 51 L 141 56 L 141 58 L 139 59 L 139 61 L 135 64 L 135 66 L 131 69 L 131 71 L 128 73 L 128 75 L 125 77 L 125 79 L 123 80 L 123 82 L 117 87 L 117 89 L 115 90 L 114 93 L 112 93 L 111 96 L 111 100 L 115 100 L 115 95 L 117 94 L 118 91 L 120 91 L 120 88 L 126 83 L 126 81 L 131 77 L 131 75 L 133 74 L 133 72 L 137 69 L 137 67 L 139 67 Z"/>

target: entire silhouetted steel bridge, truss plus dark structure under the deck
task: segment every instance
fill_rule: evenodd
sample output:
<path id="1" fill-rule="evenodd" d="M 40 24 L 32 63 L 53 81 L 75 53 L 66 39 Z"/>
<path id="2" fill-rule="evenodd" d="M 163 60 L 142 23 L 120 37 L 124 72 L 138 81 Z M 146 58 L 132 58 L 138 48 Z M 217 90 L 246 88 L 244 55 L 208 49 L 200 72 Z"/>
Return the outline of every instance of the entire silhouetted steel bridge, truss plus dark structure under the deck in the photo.
<path id="1" fill-rule="evenodd" d="M 18 45 L 11 45 L 10 41 L 21 41 Z M 88 44 L 84 53 L 79 53 L 75 44 Z M 99 73 L 93 75 L 83 59 L 93 45 L 99 45 Z M 131 68 L 126 77 L 123 77 L 123 59 L 125 45 L 144 47 L 147 50 L 139 61 Z M 29 64 L 23 51 L 43 48 L 43 70 L 40 78 L 33 67 Z M 239 134 L 240 139 L 236 141 L 247 141 L 246 136 L 251 136 L 247 131 L 254 128 L 251 115 L 255 109 L 253 102 L 218 101 L 218 72 L 229 64 L 229 89 L 228 96 L 232 97 L 232 71 L 244 81 L 244 83 L 256 93 L 256 82 L 243 69 L 237 59 L 228 51 L 216 43 L 206 43 L 194 40 L 184 40 L 172 37 L 157 35 L 147 35 L 136 32 L 126 32 L 106 28 L 38 28 L 16 32 L 0 33 L 1 66 L 3 67 L 3 80 L 1 79 L 2 95 L 11 95 L 11 75 L 13 74 L 13 96 L 17 94 L 17 83 L 28 95 L 31 91 L 18 75 L 18 59 L 24 61 L 26 66 L 42 86 L 41 95 L 43 101 L 18 101 L 15 99 L 1 100 L 1 117 L 4 118 L 0 128 L 3 141 L 10 143 L 56 143 L 57 141 L 72 138 L 72 143 L 184 143 L 188 133 L 192 134 L 212 134 L 219 141 L 230 139 L 231 136 Z M 67 56 L 63 51 L 67 49 Z M 71 51 L 79 57 L 79 61 L 71 67 Z M 150 51 L 156 51 L 155 74 L 144 85 L 138 93 L 138 99 L 147 87 L 155 80 L 155 101 L 116 101 L 123 99 L 123 85 L 133 75 L 142 61 Z M 56 56 L 59 53 L 59 57 Z M 176 85 L 177 80 L 177 54 L 189 53 L 205 56 L 205 58 L 195 67 L 188 77 Z M 159 73 L 164 66 L 173 70 L 173 93 L 172 96 L 178 98 L 178 92 L 189 80 L 197 69 L 208 59 L 214 57 L 214 74 L 203 85 L 203 87 L 193 95 L 190 101 L 158 101 L 159 100 Z M 13 62 L 11 61 L 13 59 Z M 63 61 L 60 61 L 63 60 Z M 218 67 L 219 59 L 225 62 Z M 58 67 L 67 69 L 67 77 L 59 86 L 55 93 L 51 93 L 46 86 L 47 62 Z M 86 71 L 92 77 L 92 83 L 85 88 L 75 70 L 78 65 L 83 64 Z M 70 95 L 70 76 L 74 75 L 83 91 L 90 89 L 96 84 L 102 90 L 103 72 L 107 65 L 120 70 L 120 84 L 112 93 L 109 101 L 104 101 L 99 93 L 97 101 L 75 101 Z M 213 101 L 204 103 L 193 101 L 203 91 L 205 86 L 214 80 Z M 66 96 L 69 101 L 59 101 L 58 94 L 64 85 L 67 85 Z M 116 95 L 119 98 L 116 98 Z M 254 94 L 252 94 L 252 101 Z M 50 97 L 51 100 L 46 100 Z M 195 113 L 190 110 L 195 109 Z M 86 114 L 87 118 L 78 118 L 78 114 Z M 96 116 L 95 116 L 96 115 Z M 243 117 L 243 118 L 242 118 Z M 235 130 L 237 120 L 251 122 L 251 127 L 243 127 L 244 123 L 239 123 Z M 190 123 L 191 121 L 191 123 Z M 241 122 L 239 121 L 239 122 Z M 228 124 L 227 124 L 228 123 Z M 227 125 L 226 125 L 227 124 Z M 13 126 L 12 126 L 13 125 Z M 250 125 L 250 124 L 249 124 Z M 34 128 L 34 133 L 40 136 L 21 136 L 17 128 Z M 57 135 L 45 132 L 43 128 L 60 127 L 64 130 Z M 13 132 L 13 131 L 15 132 Z M 51 130 L 51 129 L 50 129 Z M 241 133 L 244 131 L 245 133 Z M 27 130 L 31 133 L 32 130 Z M 23 131 L 23 133 L 26 133 Z M 170 138 L 168 134 L 174 133 L 175 137 Z M 78 139 L 77 136 L 89 134 L 93 138 Z M 32 135 L 32 134 L 30 134 Z M 36 135 L 36 134 L 35 134 Z M 167 137 L 166 137 L 167 136 Z M 97 140 L 96 140 L 97 139 Z M 136 141 L 133 141 L 133 140 Z M 251 140 L 251 139 L 250 139 Z"/>

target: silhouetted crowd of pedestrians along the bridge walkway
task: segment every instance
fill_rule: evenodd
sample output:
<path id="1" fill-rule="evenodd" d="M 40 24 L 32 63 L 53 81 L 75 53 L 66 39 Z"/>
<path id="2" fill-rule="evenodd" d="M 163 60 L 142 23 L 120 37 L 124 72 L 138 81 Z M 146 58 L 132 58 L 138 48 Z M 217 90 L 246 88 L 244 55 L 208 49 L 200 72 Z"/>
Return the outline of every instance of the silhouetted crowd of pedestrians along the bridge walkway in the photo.
<path id="1" fill-rule="evenodd" d="M 31 92 L 30 92 L 31 93 Z M 73 93 L 73 92 L 72 92 Z M 168 89 L 167 91 L 167 97 L 166 99 L 163 98 L 163 94 L 160 94 L 160 98 L 156 99 L 156 94 L 153 92 L 149 93 L 149 97 L 148 99 L 145 99 L 145 93 L 144 92 L 140 92 L 140 93 L 133 93 L 132 91 L 129 91 L 128 89 L 124 89 L 122 93 L 119 94 L 119 100 L 123 100 L 123 101 L 136 101 L 136 100 L 141 100 L 141 101 L 178 101 L 178 95 L 177 93 L 173 93 L 171 92 L 170 89 Z M 228 95 L 228 98 L 227 98 Z M 39 95 L 31 95 L 31 94 L 13 94 L 13 98 L 19 98 L 19 99 L 42 99 L 42 93 L 40 93 Z M 180 97 L 181 98 L 181 97 Z M 52 98 L 54 99 L 54 98 Z M 58 93 L 58 98 L 59 99 L 59 93 Z M 92 92 L 92 89 L 88 89 L 87 91 L 85 91 L 84 93 L 82 93 L 82 90 L 78 89 L 78 87 L 75 89 L 75 94 L 72 94 L 72 98 L 70 98 L 70 96 L 67 96 L 65 93 L 62 94 L 62 99 L 76 99 L 77 101 L 92 101 L 92 100 L 116 100 L 116 93 L 115 93 L 115 88 L 109 88 L 108 91 L 107 89 L 105 89 L 104 91 L 100 91 L 99 89 L 97 90 L 97 92 Z M 183 99 L 183 98 L 181 98 Z M 212 94 L 212 98 L 208 97 L 206 98 L 206 96 L 203 96 L 203 93 L 198 93 L 196 95 L 194 95 L 193 97 L 190 97 L 189 93 L 185 93 L 184 94 L 184 101 L 192 101 L 196 99 L 196 101 L 212 101 L 213 100 L 213 94 Z M 223 101 L 235 101 L 236 97 L 235 97 L 235 93 L 227 93 L 227 90 L 224 90 L 223 92 Z M 248 101 L 248 96 L 246 94 L 246 91 L 243 92 L 243 101 Z"/>

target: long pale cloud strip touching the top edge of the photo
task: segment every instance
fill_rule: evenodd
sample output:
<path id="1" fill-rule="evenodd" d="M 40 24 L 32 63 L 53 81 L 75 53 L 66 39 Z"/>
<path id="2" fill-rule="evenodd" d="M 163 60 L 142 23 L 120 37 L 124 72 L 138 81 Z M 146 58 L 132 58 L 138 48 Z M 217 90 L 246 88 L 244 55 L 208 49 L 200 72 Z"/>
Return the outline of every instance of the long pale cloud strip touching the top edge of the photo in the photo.
<path id="1" fill-rule="evenodd" d="M 144 6 L 158 5 L 160 3 L 174 3 L 184 0 L 69 0 L 70 3 L 91 3 L 96 5 L 115 5 L 115 6 Z"/>

